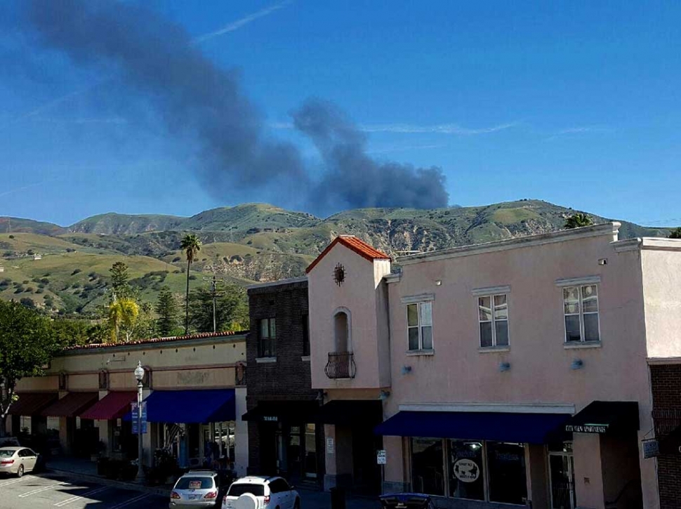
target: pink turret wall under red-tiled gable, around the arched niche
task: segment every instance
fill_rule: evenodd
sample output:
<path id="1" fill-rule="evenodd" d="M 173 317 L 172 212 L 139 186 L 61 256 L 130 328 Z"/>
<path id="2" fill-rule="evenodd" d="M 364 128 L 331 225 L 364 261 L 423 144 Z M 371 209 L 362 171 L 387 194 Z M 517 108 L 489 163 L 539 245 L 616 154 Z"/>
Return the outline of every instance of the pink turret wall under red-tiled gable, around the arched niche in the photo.
<path id="1" fill-rule="evenodd" d="M 338 263 L 345 267 L 341 286 L 333 281 L 333 269 Z M 390 272 L 389 263 L 371 263 L 343 244 L 336 244 L 308 274 L 312 388 L 376 388 L 385 382 L 388 368 L 381 374 L 378 367 L 377 294 L 386 270 Z M 324 374 L 328 354 L 336 348 L 333 316 L 338 308 L 350 310 L 352 351 L 357 365 L 357 374 L 351 380 L 331 380 Z M 384 332 L 382 344 L 386 338 Z"/>

